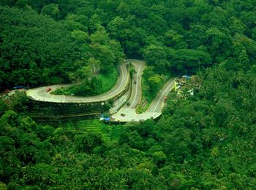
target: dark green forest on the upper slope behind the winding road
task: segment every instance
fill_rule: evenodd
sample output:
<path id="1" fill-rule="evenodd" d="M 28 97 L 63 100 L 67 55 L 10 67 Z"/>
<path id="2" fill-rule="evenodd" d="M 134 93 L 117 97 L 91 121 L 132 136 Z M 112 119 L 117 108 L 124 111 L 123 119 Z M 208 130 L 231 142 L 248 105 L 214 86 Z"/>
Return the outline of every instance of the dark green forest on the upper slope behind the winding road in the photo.
<path id="1" fill-rule="evenodd" d="M 124 54 L 144 58 L 154 72 L 167 75 L 195 74 L 219 63 L 246 70 L 255 62 L 254 1 L 0 4 L 1 90 L 88 82 L 90 77 L 80 76 L 80 69 L 88 66 L 89 59 L 99 61 L 99 70 L 105 73 L 113 71 Z"/>

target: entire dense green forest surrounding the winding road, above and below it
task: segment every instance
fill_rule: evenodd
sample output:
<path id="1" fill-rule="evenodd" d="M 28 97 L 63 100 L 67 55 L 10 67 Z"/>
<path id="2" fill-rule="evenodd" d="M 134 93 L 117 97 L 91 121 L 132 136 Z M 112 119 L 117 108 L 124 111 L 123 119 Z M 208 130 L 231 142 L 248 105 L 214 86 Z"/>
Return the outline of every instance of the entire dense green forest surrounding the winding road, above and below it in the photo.
<path id="1" fill-rule="evenodd" d="M 0 100 L 1 189 L 255 189 L 256 1 L 0 4 L 1 89 L 91 82 L 121 48 L 146 60 L 151 91 L 166 74 L 201 81 L 170 95 L 159 121 L 125 124 L 118 143 L 36 124 L 23 95 Z"/>

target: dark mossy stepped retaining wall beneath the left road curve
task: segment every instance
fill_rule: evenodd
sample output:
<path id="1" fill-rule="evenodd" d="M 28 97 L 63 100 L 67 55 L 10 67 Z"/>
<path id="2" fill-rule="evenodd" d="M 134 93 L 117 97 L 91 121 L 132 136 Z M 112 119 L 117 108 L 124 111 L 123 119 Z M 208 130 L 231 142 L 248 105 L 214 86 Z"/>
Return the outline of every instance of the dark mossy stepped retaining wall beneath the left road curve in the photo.
<path id="1" fill-rule="evenodd" d="M 129 71 L 129 68 L 128 68 Z M 89 103 L 56 103 L 45 102 L 39 100 L 30 99 L 29 115 L 36 121 L 48 122 L 67 120 L 72 118 L 99 118 L 103 111 L 106 111 L 105 105 L 113 103 L 119 98 L 121 99 L 121 106 L 125 103 L 130 94 L 130 77 L 128 82 L 120 93 L 113 98 L 105 101 L 96 101 Z M 121 107 L 120 106 L 120 107 Z M 119 108 L 120 108 L 119 107 Z M 111 110 L 111 108 L 110 108 Z"/>

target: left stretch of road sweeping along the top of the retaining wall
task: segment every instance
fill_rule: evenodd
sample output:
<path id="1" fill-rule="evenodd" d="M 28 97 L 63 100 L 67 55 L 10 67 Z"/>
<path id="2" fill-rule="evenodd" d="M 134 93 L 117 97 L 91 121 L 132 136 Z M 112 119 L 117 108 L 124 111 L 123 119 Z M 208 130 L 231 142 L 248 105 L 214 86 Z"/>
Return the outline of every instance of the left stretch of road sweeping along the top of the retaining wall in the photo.
<path id="1" fill-rule="evenodd" d="M 28 90 L 26 93 L 27 95 L 39 101 L 46 101 L 46 102 L 61 102 L 61 103 L 91 103 L 91 102 L 101 102 L 110 100 L 113 97 L 116 97 L 119 93 L 123 92 L 127 83 L 129 82 L 129 72 L 127 69 L 127 63 L 130 63 L 130 60 L 125 60 L 124 63 L 118 65 L 118 80 L 116 85 L 108 92 L 105 92 L 102 95 L 96 95 L 91 97 L 79 97 L 74 95 L 52 95 L 50 92 L 46 92 L 46 90 L 50 87 L 52 90 L 56 90 L 60 87 L 69 87 L 73 84 L 57 84 L 51 85 L 48 87 L 38 87 L 31 90 Z"/>

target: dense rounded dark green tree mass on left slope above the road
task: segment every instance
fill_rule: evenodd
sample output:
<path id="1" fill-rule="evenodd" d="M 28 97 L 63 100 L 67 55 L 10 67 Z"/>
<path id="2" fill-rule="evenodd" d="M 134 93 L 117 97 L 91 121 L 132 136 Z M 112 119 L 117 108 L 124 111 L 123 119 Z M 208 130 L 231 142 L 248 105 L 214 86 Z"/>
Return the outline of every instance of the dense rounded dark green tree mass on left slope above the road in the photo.
<path id="1" fill-rule="evenodd" d="M 105 28 L 96 25 L 89 35 L 74 15 L 56 22 L 29 7 L 0 12 L 0 90 L 69 81 L 100 87 L 97 74 L 110 73 L 123 57 Z"/>

